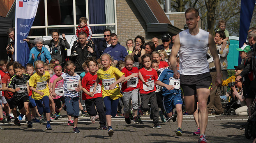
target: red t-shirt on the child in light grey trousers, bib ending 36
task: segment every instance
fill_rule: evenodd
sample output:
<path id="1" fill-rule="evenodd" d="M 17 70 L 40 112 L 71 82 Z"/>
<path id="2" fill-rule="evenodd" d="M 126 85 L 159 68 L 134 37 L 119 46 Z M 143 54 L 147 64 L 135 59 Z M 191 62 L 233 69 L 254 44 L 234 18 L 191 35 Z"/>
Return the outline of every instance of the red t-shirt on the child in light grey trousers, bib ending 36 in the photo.
<path id="1" fill-rule="evenodd" d="M 137 67 L 132 67 L 131 70 L 128 70 L 126 67 L 124 67 L 122 69 L 122 72 L 125 73 L 125 77 L 133 74 L 133 73 L 138 73 L 138 68 Z M 129 83 L 129 85 L 127 86 L 127 81 Z M 130 78 L 129 80 L 127 80 L 126 82 L 122 83 L 122 92 L 129 92 L 132 91 L 136 88 L 139 87 L 138 84 L 138 76 L 134 77 L 134 78 Z"/>

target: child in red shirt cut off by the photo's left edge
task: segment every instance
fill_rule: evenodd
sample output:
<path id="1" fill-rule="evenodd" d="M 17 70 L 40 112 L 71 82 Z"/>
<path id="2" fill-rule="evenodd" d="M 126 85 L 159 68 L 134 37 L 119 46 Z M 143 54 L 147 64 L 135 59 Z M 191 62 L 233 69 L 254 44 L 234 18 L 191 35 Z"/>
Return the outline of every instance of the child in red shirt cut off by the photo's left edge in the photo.
<path id="1" fill-rule="evenodd" d="M 6 65 L 7 65 L 8 61 L 6 59 L 2 59 L 0 60 L 0 75 L 1 75 L 1 81 L 2 79 L 4 78 L 4 75 L 6 74 L 7 72 L 7 68 L 6 68 Z M 1 86 L 0 86 L 1 87 Z M 11 118 L 10 118 L 10 108 L 9 108 L 9 104 L 7 103 L 6 99 L 5 99 L 5 96 L 4 96 L 4 92 L 2 91 L 1 94 L 0 94 L 0 99 L 2 100 L 2 103 L 3 105 L 5 105 L 4 109 L 5 109 L 5 113 L 6 113 L 6 118 L 7 118 L 7 122 L 10 122 L 12 121 Z"/>

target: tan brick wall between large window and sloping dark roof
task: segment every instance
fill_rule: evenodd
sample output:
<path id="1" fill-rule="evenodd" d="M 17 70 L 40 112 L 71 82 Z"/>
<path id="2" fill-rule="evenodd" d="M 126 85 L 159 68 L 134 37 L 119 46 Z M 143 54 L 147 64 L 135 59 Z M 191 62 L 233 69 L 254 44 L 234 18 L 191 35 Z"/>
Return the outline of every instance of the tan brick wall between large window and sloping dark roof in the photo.
<path id="1" fill-rule="evenodd" d="M 126 47 L 126 40 L 134 40 L 137 35 L 143 36 L 145 42 L 155 36 L 161 41 L 160 33 L 147 32 L 146 22 L 131 0 L 116 0 L 116 11 L 118 41 L 122 46 Z"/>

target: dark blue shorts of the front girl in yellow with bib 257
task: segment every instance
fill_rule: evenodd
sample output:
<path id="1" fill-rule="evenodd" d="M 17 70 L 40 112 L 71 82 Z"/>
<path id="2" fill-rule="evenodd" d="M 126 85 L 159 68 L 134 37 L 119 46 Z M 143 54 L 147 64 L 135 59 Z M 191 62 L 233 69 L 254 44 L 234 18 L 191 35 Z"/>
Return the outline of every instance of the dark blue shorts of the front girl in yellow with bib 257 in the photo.
<path id="1" fill-rule="evenodd" d="M 110 96 L 105 96 L 103 98 L 103 101 L 106 107 L 106 115 L 111 115 L 112 117 L 115 117 L 118 109 L 119 99 L 113 100 L 110 98 Z"/>

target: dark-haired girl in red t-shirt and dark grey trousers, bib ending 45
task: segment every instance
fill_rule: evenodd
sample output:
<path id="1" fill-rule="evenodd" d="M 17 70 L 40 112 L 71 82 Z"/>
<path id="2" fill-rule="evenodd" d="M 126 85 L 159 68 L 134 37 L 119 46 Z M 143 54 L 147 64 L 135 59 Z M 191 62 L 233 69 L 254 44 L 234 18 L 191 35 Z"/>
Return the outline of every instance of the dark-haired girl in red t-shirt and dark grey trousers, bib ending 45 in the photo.
<path id="1" fill-rule="evenodd" d="M 159 125 L 158 119 L 158 105 L 156 97 L 156 87 L 155 83 L 157 82 L 157 71 L 151 68 L 152 58 L 149 54 L 145 54 L 141 57 L 142 64 L 144 67 L 139 70 L 139 90 L 141 93 L 141 107 L 139 112 L 146 112 L 149 109 L 148 103 L 150 101 L 151 111 L 150 114 L 153 117 L 153 128 L 162 128 Z"/>

